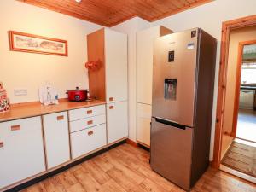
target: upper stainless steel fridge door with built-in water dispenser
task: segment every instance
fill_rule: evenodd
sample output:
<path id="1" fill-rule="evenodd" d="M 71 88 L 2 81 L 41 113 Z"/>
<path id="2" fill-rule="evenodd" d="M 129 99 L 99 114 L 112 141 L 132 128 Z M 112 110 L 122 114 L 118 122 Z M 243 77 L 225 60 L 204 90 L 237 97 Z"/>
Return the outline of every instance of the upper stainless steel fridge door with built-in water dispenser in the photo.
<path id="1" fill-rule="evenodd" d="M 198 30 L 158 38 L 154 44 L 154 117 L 193 126 Z"/>

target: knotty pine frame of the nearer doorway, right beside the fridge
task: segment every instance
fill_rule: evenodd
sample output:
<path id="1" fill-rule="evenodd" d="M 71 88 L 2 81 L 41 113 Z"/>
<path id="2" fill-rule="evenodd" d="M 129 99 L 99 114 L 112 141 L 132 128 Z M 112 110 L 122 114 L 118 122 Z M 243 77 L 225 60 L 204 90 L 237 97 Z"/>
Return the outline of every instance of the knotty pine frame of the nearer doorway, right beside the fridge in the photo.
<path id="1" fill-rule="evenodd" d="M 226 76 L 228 69 L 228 55 L 230 44 L 230 30 L 242 28 L 245 26 L 256 25 L 256 15 L 243 17 L 236 20 L 225 21 L 222 24 L 222 37 L 220 49 L 220 63 L 218 72 L 218 100 L 217 100 L 217 113 L 214 137 L 214 149 L 212 167 L 219 168 L 221 159 L 221 146 L 222 146 L 222 132 L 224 121 L 224 104 L 226 93 Z"/>

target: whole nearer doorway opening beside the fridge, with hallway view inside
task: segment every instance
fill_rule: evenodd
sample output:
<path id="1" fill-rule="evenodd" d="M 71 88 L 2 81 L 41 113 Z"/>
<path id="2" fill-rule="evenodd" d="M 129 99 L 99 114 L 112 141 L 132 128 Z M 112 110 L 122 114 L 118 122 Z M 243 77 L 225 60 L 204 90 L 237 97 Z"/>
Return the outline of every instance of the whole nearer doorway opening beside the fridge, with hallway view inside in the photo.
<path id="1" fill-rule="evenodd" d="M 256 183 L 256 25 L 231 29 L 219 168 Z"/>

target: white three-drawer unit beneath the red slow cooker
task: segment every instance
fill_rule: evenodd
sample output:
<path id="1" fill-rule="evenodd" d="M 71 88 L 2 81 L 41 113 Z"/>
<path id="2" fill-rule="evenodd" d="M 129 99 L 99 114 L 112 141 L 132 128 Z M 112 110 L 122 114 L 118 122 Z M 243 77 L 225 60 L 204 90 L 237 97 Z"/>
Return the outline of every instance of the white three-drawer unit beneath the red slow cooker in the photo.
<path id="1" fill-rule="evenodd" d="M 105 105 L 73 109 L 69 118 L 72 159 L 107 145 Z"/>

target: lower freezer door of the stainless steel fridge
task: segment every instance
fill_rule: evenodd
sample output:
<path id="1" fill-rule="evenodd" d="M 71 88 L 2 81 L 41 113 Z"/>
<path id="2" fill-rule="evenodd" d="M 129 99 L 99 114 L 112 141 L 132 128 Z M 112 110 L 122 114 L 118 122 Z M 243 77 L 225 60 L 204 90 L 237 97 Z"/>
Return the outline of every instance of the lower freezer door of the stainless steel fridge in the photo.
<path id="1" fill-rule="evenodd" d="M 186 190 L 190 187 L 193 130 L 165 125 L 152 118 L 151 167 Z"/>

